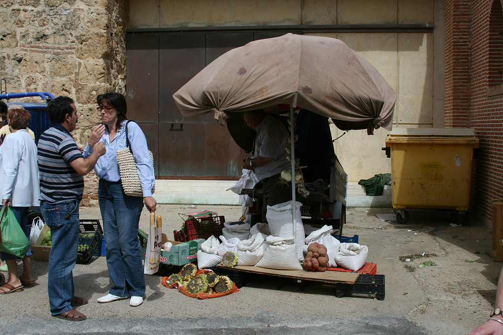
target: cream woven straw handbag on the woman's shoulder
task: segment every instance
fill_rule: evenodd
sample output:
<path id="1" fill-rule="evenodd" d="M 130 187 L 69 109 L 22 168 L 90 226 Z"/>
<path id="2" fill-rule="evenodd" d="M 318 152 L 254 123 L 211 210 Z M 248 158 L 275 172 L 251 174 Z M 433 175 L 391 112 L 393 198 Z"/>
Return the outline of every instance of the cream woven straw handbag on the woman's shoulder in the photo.
<path id="1" fill-rule="evenodd" d="M 126 122 L 126 148 L 117 150 L 117 163 L 119 164 L 119 173 L 121 175 L 122 189 L 124 194 L 129 196 L 141 196 L 143 197 L 143 192 L 141 190 L 140 178 L 138 177 L 138 168 L 136 167 L 136 162 L 134 161 L 133 151 L 131 150 L 131 143 L 129 142 L 129 137 L 127 133 L 127 125 L 131 121 Z M 149 150 L 150 159 L 152 160 L 152 165 L 154 158 L 152 152 Z M 152 194 L 155 192 L 155 184 L 152 186 Z"/>

